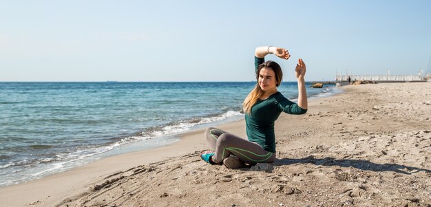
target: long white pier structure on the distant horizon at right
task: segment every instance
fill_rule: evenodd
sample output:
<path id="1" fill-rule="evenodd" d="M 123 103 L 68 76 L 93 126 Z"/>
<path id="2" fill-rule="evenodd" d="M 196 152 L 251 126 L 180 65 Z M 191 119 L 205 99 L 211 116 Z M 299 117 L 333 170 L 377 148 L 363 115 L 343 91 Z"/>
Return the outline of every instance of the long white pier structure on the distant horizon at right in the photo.
<path id="1" fill-rule="evenodd" d="M 427 74 L 426 76 L 423 75 L 423 71 L 419 71 L 417 75 L 391 75 L 390 70 L 386 69 L 386 74 L 384 75 L 353 75 L 348 74 L 346 71 L 346 74 L 341 74 L 341 71 L 335 72 L 335 82 L 344 82 L 348 81 L 348 77 L 350 76 L 351 81 L 355 80 L 373 80 L 378 82 L 406 82 L 406 81 L 426 81 L 426 77 L 429 76 Z"/>

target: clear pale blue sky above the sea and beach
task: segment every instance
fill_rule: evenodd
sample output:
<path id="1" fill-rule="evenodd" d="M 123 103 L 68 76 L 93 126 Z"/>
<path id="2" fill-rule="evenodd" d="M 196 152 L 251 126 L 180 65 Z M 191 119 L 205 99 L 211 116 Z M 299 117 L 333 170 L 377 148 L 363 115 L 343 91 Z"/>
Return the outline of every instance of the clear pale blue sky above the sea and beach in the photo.
<path id="1" fill-rule="evenodd" d="M 431 1 L 0 1 L 0 81 L 249 81 L 261 45 L 284 81 L 426 72 Z"/>

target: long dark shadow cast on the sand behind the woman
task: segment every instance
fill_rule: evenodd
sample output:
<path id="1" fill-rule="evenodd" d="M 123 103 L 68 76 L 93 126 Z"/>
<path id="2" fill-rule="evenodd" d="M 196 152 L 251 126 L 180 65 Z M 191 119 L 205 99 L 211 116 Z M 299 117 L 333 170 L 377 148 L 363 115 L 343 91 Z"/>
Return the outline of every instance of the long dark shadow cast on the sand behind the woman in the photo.
<path id="1" fill-rule="evenodd" d="M 277 159 L 273 163 L 274 166 L 282 166 L 289 164 L 316 164 L 322 166 L 342 166 L 342 167 L 354 167 L 358 168 L 362 171 L 392 171 L 395 173 L 402 173 L 411 175 L 412 173 L 419 173 L 423 171 L 425 173 L 431 173 L 429 169 L 417 168 L 412 166 L 405 166 L 401 164 L 377 164 L 367 160 L 350 160 L 350 159 L 342 159 L 336 160 L 333 157 L 325 157 L 325 158 L 315 158 L 313 156 L 308 156 L 300 159 Z"/>

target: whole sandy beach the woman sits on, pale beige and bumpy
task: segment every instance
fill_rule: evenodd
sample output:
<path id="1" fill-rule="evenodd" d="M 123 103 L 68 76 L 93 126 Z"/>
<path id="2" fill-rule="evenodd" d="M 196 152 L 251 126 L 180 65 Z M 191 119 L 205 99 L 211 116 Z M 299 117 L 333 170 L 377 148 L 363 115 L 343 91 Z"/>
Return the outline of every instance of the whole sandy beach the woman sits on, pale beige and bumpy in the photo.
<path id="1" fill-rule="evenodd" d="M 280 116 L 273 164 L 209 165 L 199 130 L 0 188 L 0 206 L 431 206 L 431 83 L 342 89 Z M 218 127 L 245 137 L 244 120 Z"/>

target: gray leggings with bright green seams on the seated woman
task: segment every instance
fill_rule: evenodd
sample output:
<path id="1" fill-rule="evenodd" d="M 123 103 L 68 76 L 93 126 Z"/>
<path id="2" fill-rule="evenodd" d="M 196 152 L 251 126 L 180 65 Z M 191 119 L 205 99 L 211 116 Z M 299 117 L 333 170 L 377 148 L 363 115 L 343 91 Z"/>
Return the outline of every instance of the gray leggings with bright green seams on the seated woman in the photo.
<path id="1" fill-rule="evenodd" d="M 217 163 L 222 162 L 231 154 L 249 164 L 274 162 L 275 160 L 275 153 L 264 150 L 259 144 L 217 128 L 209 127 L 205 131 L 205 137 L 211 149 L 215 151 L 213 161 Z"/>

